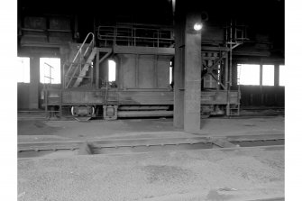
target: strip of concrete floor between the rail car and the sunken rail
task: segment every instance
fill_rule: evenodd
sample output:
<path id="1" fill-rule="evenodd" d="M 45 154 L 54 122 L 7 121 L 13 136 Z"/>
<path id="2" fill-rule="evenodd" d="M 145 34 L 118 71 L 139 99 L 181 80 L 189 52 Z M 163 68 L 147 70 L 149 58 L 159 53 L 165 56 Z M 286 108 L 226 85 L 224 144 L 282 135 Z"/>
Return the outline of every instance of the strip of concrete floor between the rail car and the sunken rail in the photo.
<path id="1" fill-rule="evenodd" d="M 18 121 L 18 142 L 49 142 L 129 138 L 169 138 L 284 134 L 284 116 L 257 118 L 208 118 L 201 120 L 197 133 L 182 132 L 169 119 L 125 119 L 116 121 Z"/>

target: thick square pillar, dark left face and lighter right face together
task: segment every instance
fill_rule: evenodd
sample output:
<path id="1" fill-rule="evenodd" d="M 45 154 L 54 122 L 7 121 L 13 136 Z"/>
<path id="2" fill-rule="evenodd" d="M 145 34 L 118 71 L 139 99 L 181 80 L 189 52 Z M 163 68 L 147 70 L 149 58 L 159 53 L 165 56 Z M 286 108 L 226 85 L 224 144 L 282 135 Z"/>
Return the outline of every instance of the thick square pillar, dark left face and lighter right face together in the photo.
<path id="1" fill-rule="evenodd" d="M 201 31 L 194 30 L 195 23 L 201 23 L 200 13 L 176 16 L 173 124 L 185 132 L 200 130 Z"/>

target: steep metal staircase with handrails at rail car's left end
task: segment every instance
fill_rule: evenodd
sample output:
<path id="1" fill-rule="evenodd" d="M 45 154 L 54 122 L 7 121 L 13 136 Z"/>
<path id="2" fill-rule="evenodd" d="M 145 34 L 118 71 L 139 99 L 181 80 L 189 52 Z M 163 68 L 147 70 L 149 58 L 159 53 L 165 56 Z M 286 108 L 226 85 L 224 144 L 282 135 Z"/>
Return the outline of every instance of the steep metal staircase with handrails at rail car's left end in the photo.
<path id="1" fill-rule="evenodd" d="M 89 36 L 92 36 L 91 41 L 87 44 L 86 41 Z M 64 73 L 65 82 L 64 87 L 78 87 L 84 78 L 87 77 L 87 71 L 92 65 L 93 59 L 96 56 L 95 48 L 95 35 L 92 32 L 87 34 L 87 37 L 83 41 L 82 45 L 78 49 L 78 52 L 72 62 L 69 64 L 69 69 Z"/>

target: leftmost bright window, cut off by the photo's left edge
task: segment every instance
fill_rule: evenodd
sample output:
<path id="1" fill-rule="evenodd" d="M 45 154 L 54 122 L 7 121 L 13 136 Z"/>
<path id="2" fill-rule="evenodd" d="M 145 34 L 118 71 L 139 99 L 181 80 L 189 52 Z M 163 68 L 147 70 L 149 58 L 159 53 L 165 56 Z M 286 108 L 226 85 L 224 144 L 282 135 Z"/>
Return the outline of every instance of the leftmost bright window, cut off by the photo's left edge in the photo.
<path id="1" fill-rule="evenodd" d="M 17 58 L 17 82 L 30 83 L 30 58 Z"/>

